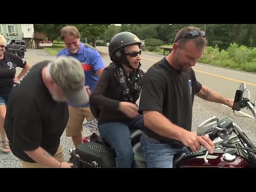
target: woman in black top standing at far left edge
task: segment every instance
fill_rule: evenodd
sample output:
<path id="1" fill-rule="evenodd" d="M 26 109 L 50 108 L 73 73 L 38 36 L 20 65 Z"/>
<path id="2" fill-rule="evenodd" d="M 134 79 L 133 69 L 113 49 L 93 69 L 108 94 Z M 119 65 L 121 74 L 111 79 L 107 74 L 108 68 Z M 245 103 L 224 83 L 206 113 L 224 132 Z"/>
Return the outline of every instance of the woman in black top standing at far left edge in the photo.
<path id="1" fill-rule="evenodd" d="M 4 119 L 6 114 L 6 104 L 8 95 L 14 83 L 18 83 L 20 78 L 26 74 L 30 65 L 14 53 L 6 52 L 6 39 L 0 34 L 0 135 L 1 150 L 5 153 L 10 152 L 9 142 L 4 131 Z M 15 76 L 16 67 L 23 68 L 18 76 Z"/>

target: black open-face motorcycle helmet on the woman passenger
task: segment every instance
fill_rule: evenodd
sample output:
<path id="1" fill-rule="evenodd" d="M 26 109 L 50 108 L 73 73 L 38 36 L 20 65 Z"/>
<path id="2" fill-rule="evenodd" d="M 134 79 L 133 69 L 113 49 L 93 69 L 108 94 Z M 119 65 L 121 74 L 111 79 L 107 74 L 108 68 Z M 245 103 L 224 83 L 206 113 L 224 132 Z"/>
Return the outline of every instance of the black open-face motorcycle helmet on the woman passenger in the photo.
<path id="1" fill-rule="evenodd" d="M 111 41 L 109 42 L 108 51 L 111 61 L 123 62 L 129 68 L 133 69 L 130 66 L 129 61 L 126 59 L 126 54 L 124 47 L 132 44 L 141 45 L 140 39 L 133 33 L 124 31 L 116 34 Z"/>

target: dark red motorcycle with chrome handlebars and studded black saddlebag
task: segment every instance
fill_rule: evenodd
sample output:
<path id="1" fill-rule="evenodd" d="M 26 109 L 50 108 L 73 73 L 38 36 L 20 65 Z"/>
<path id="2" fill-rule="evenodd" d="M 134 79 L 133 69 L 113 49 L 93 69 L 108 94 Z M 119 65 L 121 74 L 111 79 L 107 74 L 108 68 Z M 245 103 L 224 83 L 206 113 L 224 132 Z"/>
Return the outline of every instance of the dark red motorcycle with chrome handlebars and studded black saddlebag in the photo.
<path id="1" fill-rule="evenodd" d="M 243 97 L 248 92 L 248 98 Z M 256 102 L 256 101 L 255 101 Z M 245 83 L 236 90 L 233 110 L 239 111 L 249 108 L 254 119 L 256 118 L 255 102 L 250 101 L 250 91 L 246 90 Z M 104 140 L 98 131 L 98 121 L 83 124 L 92 134 L 84 138 L 76 149 L 70 149 L 69 162 L 73 167 L 115 167 L 115 150 Z M 131 131 L 131 141 L 134 151 L 134 168 L 146 168 L 145 157 L 140 151 L 141 130 Z M 256 167 L 256 147 L 245 135 L 242 129 L 229 117 L 219 119 L 210 117 L 201 123 L 196 130 L 197 135 L 207 135 L 213 141 L 215 148 L 213 154 L 203 147 L 199 151 L 189 154 L 174 155 L 173 167 L 229 167 L 245 168 Z"/>

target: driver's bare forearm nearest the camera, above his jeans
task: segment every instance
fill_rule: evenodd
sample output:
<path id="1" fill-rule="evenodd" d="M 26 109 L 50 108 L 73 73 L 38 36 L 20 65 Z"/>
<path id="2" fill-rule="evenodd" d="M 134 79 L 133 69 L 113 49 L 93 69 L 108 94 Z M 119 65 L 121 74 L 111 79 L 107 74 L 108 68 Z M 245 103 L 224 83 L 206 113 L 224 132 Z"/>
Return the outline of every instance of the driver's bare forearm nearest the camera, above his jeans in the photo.
<path id="1" fill-rule="evenodd" d="M 143 122 L 148 129 L 166 138 L 181 140 L 185 129 L 173 124 L 158 111 L 143 111 Z"/>

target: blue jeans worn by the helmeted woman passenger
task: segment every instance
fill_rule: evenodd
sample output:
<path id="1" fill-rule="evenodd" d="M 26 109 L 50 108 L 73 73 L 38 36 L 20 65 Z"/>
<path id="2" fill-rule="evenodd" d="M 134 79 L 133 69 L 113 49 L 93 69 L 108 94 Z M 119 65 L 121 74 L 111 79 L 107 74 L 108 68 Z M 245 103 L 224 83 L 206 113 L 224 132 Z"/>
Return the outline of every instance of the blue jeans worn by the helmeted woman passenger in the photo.
<path id="1" fill-rule="evenodd" d="M 131 144 L 131 129 L 142 129 L 142 115 L 134 118 L 130 123 L 102 123 L 99 132 L 103 140 L 116 151 L 116 168 L 131 168 L 134 153 Z"/>

